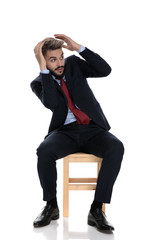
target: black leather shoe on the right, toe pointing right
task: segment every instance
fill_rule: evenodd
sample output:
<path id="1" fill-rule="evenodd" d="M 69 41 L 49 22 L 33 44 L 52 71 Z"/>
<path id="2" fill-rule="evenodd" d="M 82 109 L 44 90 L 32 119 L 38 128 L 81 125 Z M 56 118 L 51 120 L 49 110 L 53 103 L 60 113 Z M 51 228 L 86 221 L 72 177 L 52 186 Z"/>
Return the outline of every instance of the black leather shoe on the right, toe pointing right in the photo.
<path id="1" fill-rule="evenodd" d="M 100 231 L 113 231 L 114 227 L 107 221 L 102 209 L 96 208 L 88 214 L 88 225 L 96 226 Z"/>

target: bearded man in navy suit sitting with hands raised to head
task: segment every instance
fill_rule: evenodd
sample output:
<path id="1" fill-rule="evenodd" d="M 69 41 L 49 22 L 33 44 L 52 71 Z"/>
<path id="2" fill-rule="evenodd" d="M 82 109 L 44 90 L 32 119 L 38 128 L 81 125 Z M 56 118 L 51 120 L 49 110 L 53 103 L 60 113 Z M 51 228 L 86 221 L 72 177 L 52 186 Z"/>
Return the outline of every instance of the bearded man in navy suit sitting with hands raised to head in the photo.
<path id="1" fill-rule="evenodd" d="M 46 226 L 59 218 L 56 161 L 71 153 L 85 152 L 103 158 L 88 224 L 102 231 L 114 230 L 102 212 L 102 204 L 111 201 L 124 147 L 109 132 L 110 125 L 87 83 L 87 78 L 108 76 L 111 68 L 98 54 L 68 36 L 54 36 L 39 42 L 34 49 L 40 75 L 31 82 L 31 88 L 53 114 L 48 135 L 37 149 L 46 205 L 33 225 Z M 83 59 L 75 55 L 65 59 L 63 48 L 77 51 Z"/>

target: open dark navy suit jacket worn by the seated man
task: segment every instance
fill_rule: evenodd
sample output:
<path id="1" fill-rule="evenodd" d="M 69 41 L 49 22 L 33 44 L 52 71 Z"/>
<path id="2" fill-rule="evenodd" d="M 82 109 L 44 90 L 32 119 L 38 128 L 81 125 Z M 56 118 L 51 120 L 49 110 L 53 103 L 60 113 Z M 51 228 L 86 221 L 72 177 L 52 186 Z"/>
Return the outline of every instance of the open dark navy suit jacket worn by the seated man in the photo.
<path id="1" fill-rule="evenodd" d="M 86 48 L 80 53 L 83 59 L 72 55 L 65 59 L 65 78 L 73 102 L 100 127 L 109 130 L 109 123 L 90 89 L 86 78 L 105 77 L 111 67 L 98 54 Z M 42 74 L 31 82 L 31 88 L 45 107 L 52 112 L 49 131 L 63 126 L 67 113 L 67 98 L 51 74 Z"/>

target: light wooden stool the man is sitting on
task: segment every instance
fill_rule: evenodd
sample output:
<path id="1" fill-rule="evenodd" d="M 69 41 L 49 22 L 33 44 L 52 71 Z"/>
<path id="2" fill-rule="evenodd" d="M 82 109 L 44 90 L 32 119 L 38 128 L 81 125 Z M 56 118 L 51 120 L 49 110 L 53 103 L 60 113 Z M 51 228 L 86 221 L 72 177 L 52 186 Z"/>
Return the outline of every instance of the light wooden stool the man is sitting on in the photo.
<path id="1" fill-rule="evenodd" d="M 95 190 L 96 178 L 69 178 L 69 163 L 97 163 L 97 177 L 101 168 L 102 159 L 92 154 L 74 153 L 63 159 L 63 216 L 69 216 L 69 190 Z M 105 204 L 103 204 L 105 212 Z"/>

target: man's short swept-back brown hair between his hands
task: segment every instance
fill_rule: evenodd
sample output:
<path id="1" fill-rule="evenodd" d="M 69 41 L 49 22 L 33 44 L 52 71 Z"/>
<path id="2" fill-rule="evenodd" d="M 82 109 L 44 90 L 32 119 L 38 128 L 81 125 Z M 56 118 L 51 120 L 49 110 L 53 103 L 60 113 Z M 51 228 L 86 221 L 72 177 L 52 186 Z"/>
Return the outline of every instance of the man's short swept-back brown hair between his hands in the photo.
<path id="1" fill-rule="evenodd" d="M 57 40 L 55 38 L 45 38 L 43 40 L 44 44 L 42 47 L 43 56 L 45 56 L 47 50 L 56 50 L 62 48 L 64 42 L 62 40 Z"/>

